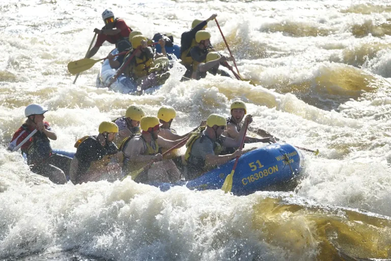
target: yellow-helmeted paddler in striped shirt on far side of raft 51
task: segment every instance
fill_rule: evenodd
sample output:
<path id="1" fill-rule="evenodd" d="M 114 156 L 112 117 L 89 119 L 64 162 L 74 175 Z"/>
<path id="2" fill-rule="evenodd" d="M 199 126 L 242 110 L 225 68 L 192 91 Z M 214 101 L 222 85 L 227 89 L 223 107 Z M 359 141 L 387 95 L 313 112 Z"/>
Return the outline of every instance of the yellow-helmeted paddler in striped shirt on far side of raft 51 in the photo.
<path id="1" fill-rule="evenodd" d="M 118 126 L 118 134 L 114 143 L 118 146 L 126 137 L 133 137 L 140 134 L 140 121 L 145 116 L 145 112 L 138 106 L 130 106 L 125 116 L 113 120 Z"/>

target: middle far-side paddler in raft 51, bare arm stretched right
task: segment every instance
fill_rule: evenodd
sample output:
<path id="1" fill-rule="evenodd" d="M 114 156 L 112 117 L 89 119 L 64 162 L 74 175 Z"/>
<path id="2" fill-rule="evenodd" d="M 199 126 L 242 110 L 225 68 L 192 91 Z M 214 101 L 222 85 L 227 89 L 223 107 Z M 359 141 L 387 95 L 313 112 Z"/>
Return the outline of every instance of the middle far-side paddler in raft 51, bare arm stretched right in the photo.
<path id="1" fill-rule="evenodd" d="M 157 117 L 160 121 L 160 132 L 159 136 L 166 139 L 166 140 L 179 140 L 187 137 L 190 133 L 196 131 L 198 129 L 195 128 L 191 132 L 186 133 L 184 135 L 179 135 L 175 131 L 175 129 L 171 128 L 171 124 L 173 123 L 173 120 L 177 116 L 177 112 L 175 109 L 171 106 L 162 106 L 160 107 L 159 111 L 157 112 Z M 202 121 L 200 123 L 200 126 L 205 126 L 205 121 Z"/>

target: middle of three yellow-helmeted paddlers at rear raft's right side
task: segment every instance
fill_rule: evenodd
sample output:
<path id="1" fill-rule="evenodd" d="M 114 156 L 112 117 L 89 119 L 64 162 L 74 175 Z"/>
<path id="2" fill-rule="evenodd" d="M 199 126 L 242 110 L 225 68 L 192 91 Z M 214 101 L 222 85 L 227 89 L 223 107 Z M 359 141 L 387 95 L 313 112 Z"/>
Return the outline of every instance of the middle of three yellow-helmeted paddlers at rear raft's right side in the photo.
<path id="1" fill-rule="evenodd" d="M 191 64 L 191 79 L 197 79 L 197 70 L 201 63 L 206 63 L 206 56 L 209 51 L 213 50 L 212 45 L 210 45 L 210 33 L 205 30 L 198 31 L 195 34 L 195 41 L 197 45 L 191 48 L 190 55 L 193 59 Z"/>

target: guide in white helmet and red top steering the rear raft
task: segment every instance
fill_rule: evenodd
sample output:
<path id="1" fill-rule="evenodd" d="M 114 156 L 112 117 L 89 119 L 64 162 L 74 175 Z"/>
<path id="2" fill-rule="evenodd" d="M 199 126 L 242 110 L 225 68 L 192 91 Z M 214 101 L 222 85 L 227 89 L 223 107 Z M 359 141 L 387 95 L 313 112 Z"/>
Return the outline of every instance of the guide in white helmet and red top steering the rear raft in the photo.
<path id="1" fill-rule="evenodd" d="M 128 27 L 125 21 L 120 18 L 115 18 L 114 13 L 110 10 L 104 10 L 102 19 L 105 25 L 102 29 L 94 29 L 94 32 L 98 34 L 98 39 L 94 47 L 91 48 L 87 58 L 93 57 L 105 41 L 116 44 L 117 47 L 117 43 L 122 40 L 127 40 L 130 32 L 132 32 L 132 29 Z"/>

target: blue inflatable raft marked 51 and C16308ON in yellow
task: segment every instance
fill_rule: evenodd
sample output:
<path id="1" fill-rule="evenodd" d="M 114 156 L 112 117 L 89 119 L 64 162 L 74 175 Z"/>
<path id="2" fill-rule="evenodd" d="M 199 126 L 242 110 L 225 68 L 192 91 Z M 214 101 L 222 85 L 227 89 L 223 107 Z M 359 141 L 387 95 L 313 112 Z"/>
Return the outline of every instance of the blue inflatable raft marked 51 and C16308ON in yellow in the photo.
<path id="1" fill-rule="evenodd" d="M 74 152 L 53 150 L 55 153 L 70 156 Z M 231 173 L 235 160 L 232 160 L 204 175 L 189 181 L 175 183 L 150 182 L 149 185 L 167 191 L 173 186 L 186 186 L 192 190 L 221 189 L 227 175 Z M 243 154 L 234 176 L 232 193 L 249 195 L 256 191 L 291 191 L 297 185 L 302 157 L 296 148 L 287 143 L 274 143 Z"/>

